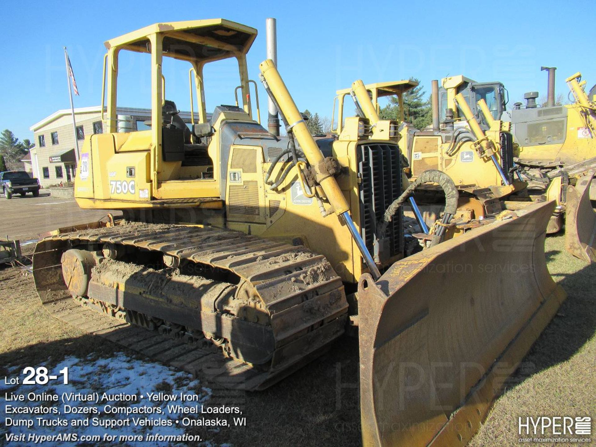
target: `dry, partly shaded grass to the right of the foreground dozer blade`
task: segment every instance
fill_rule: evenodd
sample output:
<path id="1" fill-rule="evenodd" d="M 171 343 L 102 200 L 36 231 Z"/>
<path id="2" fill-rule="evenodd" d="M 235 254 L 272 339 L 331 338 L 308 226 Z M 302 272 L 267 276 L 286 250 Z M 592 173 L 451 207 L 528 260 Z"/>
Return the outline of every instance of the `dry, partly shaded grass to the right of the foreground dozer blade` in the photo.
<path id="1" fill-rule="evenodd" d="M 518 417 L 596 415 L 596 265 L 565 252 L 563 236 L 548 237 L 545 252 L 567 300 L 508 381 L 470 447 L 519 446 Z"/>

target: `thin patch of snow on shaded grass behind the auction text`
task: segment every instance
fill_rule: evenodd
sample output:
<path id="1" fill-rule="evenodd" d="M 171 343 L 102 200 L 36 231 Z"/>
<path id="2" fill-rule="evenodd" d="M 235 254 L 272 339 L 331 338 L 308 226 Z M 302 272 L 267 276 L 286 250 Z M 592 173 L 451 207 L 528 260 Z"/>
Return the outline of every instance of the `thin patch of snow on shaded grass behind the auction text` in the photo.
<path id="1" fill-rule="evenodd" d="M 38 365 L 46 366 L 45 364 Z M 69 383 L 64 384 L 62 376 L 59 373 L 63 368 L 69 368 Z M 19 367 L 8 367 L 9 374 L 7 377 L 24 377 L 19 371 Z M 182 435 L 184 434 L 184 427 L 179 427 L 175 423 L 178 417 L 181 416 L 175 412 L 170 412 L 167 408 L 167 404 L 175 403 L 180 406 L 197 406 L 201 403 L 205 403 L 209 400 L 212 395 L 212 390 L 209 388 L 201 387 L 198 380 L 195 380 L 192 375 L 183 371 L 175 370 L 171 367 L 166 367 L 162 364 L 155 362 L 141 361 L 139 359 L 130 358 L 125 353 L 117 352 L 111 358 L 95 358 L 95 356 L 89 355 L 86 358 L 79 359 L 75 356 L 68 356 L 63 361 L 55 365 L 55 367 L 48 368 L 48 375 L 57 375 L 57 380 L 52 380 L 45 385 L 8 385 L 0 383 L 0 421 L 4 423 L 5 418 L 12 418 L 13 420 L 32 419 L 35 421 L 35 426 L 29 429 L 26 426 L 17 427 L 5 427 L 4 424 L 2 430 L 0 430 L 0 436 L 6 440 L 5 433 L 21 434 L 21 433 L 35 433 L 40 435 L 51 435 L 58 433 L 79 433 L 79 435 L 92 435 L 98 434 L 103 437 L 104 433 L 119 436 L 121 434 L 142 434 L 146 439 L 148 434 L 162 434 L 162 435 Z M 170 389 L 171 387 L 171 389 Z M 198 390 L 198 395 L 197 395 Z M 148 392 L 164 392 L 167 395 L 195 395 L 197 396 L 194 401 L 181 401 L 177 400 L 174 402 L 153 402 L 147 399 Z M 57 403 L 49 402 L 50 405 L 57 405 L 60 409 L 60 415 L 20 415 L 20 414 L 6 414 L 6 394 L 14 393 L 15 395 L 21 394 L 27 396 L 29 393 L 56 393 L 60 396 L 60 401 Z M 71 406 L 95 406 L 100 414 L 64 414 L 64 404 L 62 402 L 63 393 L 82 393 L 83 395 L 89 395 L 97 392 L 100 396 L 100 403 L 95 402 L 66 402 L 67 405 Z M 126 395 L 136 395 L 138 399 L 136 402 L 101 402 L 101 395 L 103 393 L 108 394 L 119 394 L 124 393 Z M 140 396 L 144 398 L 141 399 Z M 47 405 L 48 403 L 44 403 Z M 14 406 L 29 406 L 36 407 L 40 406 L 40 402 L 30 402 L 28 400 L 24 402 L 10 402 L 9 405 Z M 129 408 L 134 407 L 153 407 L 160 408 L 161 414 L 105 414 L 103 409 L 104 405 L 112 406 L 128 406 Z M 36 418 L 42 418 L 45 420 L 52 420 L 56 418 L 66 419 L 69 423 L 68 427 L 41 427 L 37 423 Z M 89 417 L 89 426 L 71 426 L 72 420 L 85 420 Z M 124 427 L 108 428 L 103 426 L 92 426 L 91 419 L 97 417 L 99 420 L 125 420 L 131 418 L 131 424 Z M 134 426 L 132 424 L 132 417 L 147 417 L 150 419 L 161 418 L 165 420 L 169 418 L 174 421 L 172 426 Z M 117 439 L 117 438 L 116 438 Z M 44 446 L 58 447 L 58 446 L 76 446 L 78 442 L 46 442 Z M 116 444 L 117 442 L 114 442 Z M 9 443 L 15 445 L 15 443 Z M 108 443 L 110 444 L 110 443 Z M 128 442 L 128 445 L 139 445 L 139 446 L 169 446 L 169 445 L 185 445 L 185 443 L 169 443 L 169 442 Z M 200 445 L 212 447 L 212 443 L 205 441 Z"/>

